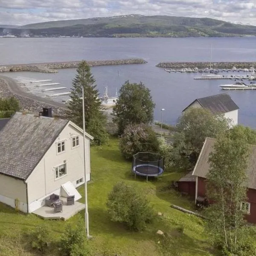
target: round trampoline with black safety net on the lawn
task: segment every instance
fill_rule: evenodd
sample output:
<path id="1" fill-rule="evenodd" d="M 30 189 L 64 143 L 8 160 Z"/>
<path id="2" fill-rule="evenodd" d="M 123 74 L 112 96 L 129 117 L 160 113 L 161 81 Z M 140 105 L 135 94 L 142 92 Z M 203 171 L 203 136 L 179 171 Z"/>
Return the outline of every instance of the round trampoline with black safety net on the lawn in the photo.
<path id="1" fill-rule="evenodd" d="M 132 171 L 136 175 L 159 177 L 163 174 L 163 157 L 151 152 L 138 152 L 133 156 Z"/>

